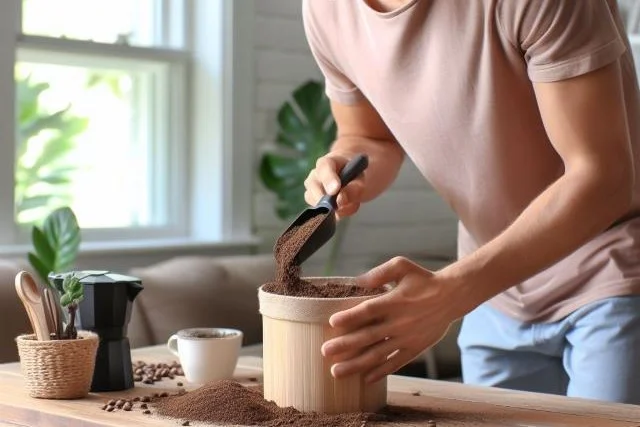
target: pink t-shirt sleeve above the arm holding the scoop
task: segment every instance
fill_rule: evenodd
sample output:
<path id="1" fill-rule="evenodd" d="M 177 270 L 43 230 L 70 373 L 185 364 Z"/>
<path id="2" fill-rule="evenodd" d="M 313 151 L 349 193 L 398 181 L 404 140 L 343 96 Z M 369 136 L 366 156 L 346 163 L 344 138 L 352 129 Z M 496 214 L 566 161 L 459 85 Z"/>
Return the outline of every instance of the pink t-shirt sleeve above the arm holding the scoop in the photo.
<path id="1" fill-rule="evenodd" d="M 333 20 L 331 16 L 322 16 L 323 14 L 328 15 L 323 13 L 326 12 L 327 8 L 322 3 L 310 0 L 304 0 L 302 3 L 302 18 L 307 42 L 324 76 L 327 96 L 341 104 L 355 104 L 363 98 L 363 95 L 340 69 L 334 55 L 332 55 L 330 46 L 333 43 L 330 37 L 333 36 L 331 28 L 327 28 L 327 26 L 333 25 Z M 318 5 L 321 5 L 324 9 L 318 9 L 320 7 Z"/>

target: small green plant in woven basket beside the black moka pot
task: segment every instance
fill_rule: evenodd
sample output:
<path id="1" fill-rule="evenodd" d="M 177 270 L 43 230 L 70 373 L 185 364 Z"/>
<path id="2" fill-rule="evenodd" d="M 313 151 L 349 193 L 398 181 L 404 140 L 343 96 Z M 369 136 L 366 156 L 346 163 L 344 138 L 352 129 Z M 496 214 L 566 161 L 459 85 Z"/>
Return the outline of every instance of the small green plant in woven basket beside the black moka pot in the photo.
<path id="1" fill-rule="evenodd" d="M 38 340 L 35 334 L 16 338 L 26 387 L 31 397 L 82 398 L 91 388 L 98 335 L 76 330 L 76 312 L 84 298 L 80 278 L 69 275 L 59 288 L 47 279 L 49 272 L 68 269 L 75 262 L 80 243 L 75 215 L 69 208 L 53 211 L 42 229 L 33 227 L 32 237 L 35 252 L 29 253 L 29 260 L 43 279 L 39 289 L 46 288 L 54 296 L 49 310 L 56 320 L 51 322 L 54 330 L 50 331 L 49 340 Z M 16 280 L 33 278 L 22 271 Z M 47 304 L 45 299 L 43 304 Z"/>

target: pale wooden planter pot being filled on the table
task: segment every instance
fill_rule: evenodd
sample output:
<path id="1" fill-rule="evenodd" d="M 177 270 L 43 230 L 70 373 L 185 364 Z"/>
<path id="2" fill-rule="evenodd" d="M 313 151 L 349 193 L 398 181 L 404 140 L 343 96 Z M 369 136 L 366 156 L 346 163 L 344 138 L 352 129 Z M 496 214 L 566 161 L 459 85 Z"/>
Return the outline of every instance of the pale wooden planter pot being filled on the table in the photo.
<path id="1" fill-rule="evenodd" d="M 352 284 L 350 278 L 305 278 Z M 258 290 L 263 325 L 264 397 L 278 406 L 329 414 L 375 412 L 386 405 L 386 378 L 334 379 L 320 348 L 336 335 L 329 317 L 373 297 L 306 298 Z"/>

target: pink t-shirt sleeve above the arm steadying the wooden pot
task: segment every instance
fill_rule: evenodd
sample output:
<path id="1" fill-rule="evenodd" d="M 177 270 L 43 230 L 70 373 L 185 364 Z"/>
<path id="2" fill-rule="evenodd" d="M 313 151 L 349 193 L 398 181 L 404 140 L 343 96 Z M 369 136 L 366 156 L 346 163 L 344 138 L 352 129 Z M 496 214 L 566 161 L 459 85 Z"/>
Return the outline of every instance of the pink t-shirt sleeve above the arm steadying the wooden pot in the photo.
<path id="1" fill-rule="evenodd" d="M 626 49 L 609 0 L 499 0 L 504 37 L 534 82 L 575 77 L 617 60 Z"/>

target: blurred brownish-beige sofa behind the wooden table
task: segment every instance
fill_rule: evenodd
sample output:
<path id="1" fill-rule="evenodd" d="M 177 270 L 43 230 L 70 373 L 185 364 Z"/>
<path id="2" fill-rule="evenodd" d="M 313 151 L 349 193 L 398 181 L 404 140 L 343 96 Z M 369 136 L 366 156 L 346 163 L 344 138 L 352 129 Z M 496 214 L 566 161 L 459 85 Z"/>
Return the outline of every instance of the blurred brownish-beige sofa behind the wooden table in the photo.
<path id="1" fill-rule="evenodd" d="M 13 286 L 22 269 L 30 271 L 23 260 L 0 260 L 0 363 L 18 360 L 14 338 L 30 330 Z M 257 288 L 273 277 L 270 254 L 175 257 L 124 273 L 141 278 L 144 286 L 129 324 L 132 347 L 162 344 L 179 329 L 201 326 L 240 329 L 244 345 L 262 340 Z M 457 325 L 429 354 L 429 376 L 459 375 L 456 336 Z"/>

